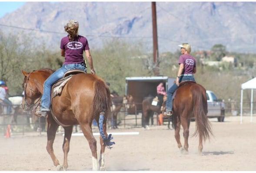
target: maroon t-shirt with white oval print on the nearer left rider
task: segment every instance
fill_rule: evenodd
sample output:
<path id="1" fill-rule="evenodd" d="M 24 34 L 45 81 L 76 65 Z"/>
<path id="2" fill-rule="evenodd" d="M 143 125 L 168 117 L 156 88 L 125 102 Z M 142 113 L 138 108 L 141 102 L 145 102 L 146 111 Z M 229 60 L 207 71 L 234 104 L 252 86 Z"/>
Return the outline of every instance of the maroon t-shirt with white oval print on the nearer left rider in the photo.
<path id="1" fill-rule="evenodd" d="M 90 48 L 87 39 L 78 35 L 74 41 L 70 41 L 68 36 L 63 37 L 60 42 L 60 49 L 65 50 L 64 64 L 75 64 L 83 62 L 83 51 Z"/>

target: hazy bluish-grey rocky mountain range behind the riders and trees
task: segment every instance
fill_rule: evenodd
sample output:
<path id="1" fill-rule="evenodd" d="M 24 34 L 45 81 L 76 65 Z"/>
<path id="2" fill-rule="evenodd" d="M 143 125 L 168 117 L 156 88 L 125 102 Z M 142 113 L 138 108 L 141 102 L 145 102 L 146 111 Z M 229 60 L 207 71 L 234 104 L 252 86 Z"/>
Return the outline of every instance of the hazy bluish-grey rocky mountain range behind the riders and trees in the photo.
<path id="1" fill-rule="evenodd" d="M 227 51 L 256 53 L 256 2 L 156 2 L 156 14 L 159 52 L 189 42 L 193 51 L 223 44 Z M 118 38 L 152 51 L 151 2 L 27 2 L 0 18 L 0 30 L 57 49 L 69 19 L 79 21 L 90 48 Z"/>

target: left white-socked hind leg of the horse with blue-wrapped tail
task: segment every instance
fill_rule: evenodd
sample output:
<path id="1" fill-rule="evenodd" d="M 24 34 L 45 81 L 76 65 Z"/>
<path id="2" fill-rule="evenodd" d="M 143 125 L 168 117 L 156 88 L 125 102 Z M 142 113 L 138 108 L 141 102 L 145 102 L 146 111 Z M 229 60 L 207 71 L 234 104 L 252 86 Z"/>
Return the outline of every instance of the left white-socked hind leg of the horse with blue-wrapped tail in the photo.
<path id="1" fill-rule="evenodd" d="M 89 123 L 80 124 L 80 127 L 81 127 L 81 129 L 83 131 L 83 135 L 87 139 L 90 149 L 92 151 L 93 170 L 98 170 L 99 165 L 98 165 L 98 160 L 97 160 L 97 145 L 96 145 L 97 141 L 93 137 L 93 131 L 91 128 L 91 124 L 89 124 Z"/>

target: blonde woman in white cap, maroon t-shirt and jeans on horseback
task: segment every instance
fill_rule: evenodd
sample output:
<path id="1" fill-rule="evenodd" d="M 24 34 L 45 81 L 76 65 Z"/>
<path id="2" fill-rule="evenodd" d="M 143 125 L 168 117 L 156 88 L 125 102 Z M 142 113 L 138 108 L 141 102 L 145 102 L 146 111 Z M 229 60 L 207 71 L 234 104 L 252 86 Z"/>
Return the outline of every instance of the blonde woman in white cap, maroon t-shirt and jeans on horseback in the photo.
<path id="1" fill-rule="evenodd" d="M 185 80 L 195 81 L 193 74 L 196 73 L 196 59 L 190 55 L 191 46 L 188 43 L 183 43 L 179 47 L 181 51 L 179 58 L 180 68 L 176 77 L 176 83 L 167 92 L 166 112 L 163 112 L 167 116 L 173 115 L 173 93 L 177 90 L 180 82 Z"/>

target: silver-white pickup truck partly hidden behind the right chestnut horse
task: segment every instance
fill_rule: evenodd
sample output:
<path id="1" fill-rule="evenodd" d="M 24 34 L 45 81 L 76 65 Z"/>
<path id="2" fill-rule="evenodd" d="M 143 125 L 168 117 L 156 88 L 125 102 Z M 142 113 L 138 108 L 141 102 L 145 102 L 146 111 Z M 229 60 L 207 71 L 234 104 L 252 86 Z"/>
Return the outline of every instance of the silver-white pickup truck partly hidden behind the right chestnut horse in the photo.
<path id="1" fill-rule="evenodd" d="M 212 91 L 206 90 L 208 118 L 217 118 L 218 122 L 223 122 L 225 118 L 225 103 L 217 99 Z"/>

